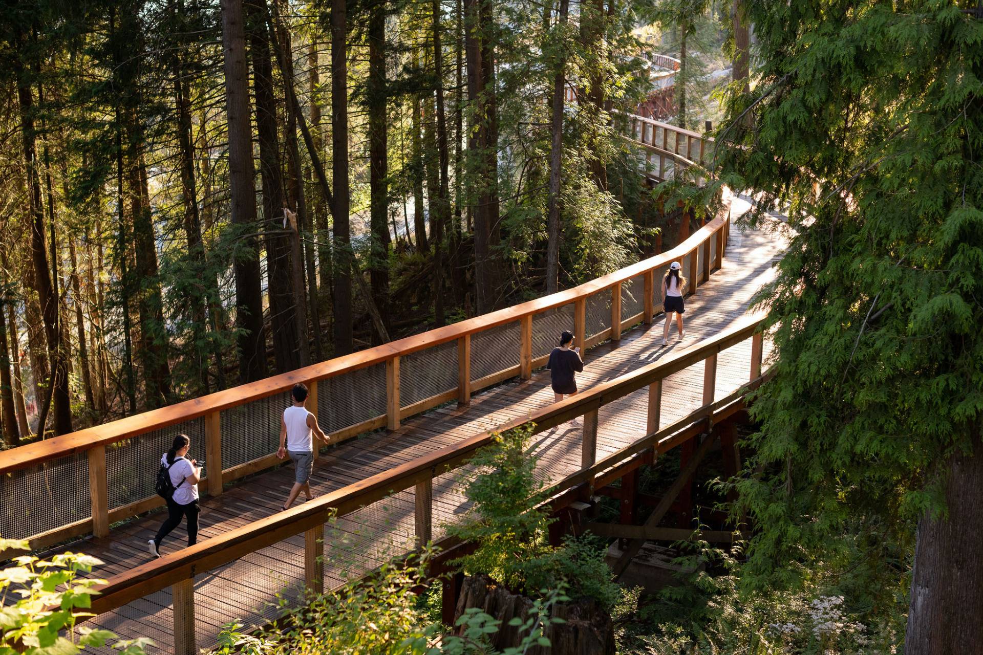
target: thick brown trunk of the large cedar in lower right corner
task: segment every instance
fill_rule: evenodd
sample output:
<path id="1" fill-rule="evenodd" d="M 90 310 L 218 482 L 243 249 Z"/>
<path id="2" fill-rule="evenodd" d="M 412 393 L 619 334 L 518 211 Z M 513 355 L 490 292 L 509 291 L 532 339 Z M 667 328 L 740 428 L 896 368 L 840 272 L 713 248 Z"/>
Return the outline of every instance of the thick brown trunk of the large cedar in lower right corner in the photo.
<path id="1" fill-rule="evenodd" d="M 947 517 L 918 521 L 906 655 L 983 653 L 983 444 L 946 470 Z"/>

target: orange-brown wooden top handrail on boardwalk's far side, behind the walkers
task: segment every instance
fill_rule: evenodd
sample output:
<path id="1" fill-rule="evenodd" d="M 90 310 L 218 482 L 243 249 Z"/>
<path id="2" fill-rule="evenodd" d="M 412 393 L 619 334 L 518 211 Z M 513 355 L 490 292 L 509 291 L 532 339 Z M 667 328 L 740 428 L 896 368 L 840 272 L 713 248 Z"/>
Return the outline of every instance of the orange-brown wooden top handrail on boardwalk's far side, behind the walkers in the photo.
<path id="1" fill-rule="evenodd" d="M 405 337 L 365 351 L 342 355 L 304 368 L 274 375 L 256 382 L 215 392 L 207 396 L 177 403 L 165 408 L 151 409 L 119 420 L 95 425 L 71 434 L 33 442 L 18 448 L 0 452 L 0 473 L 41 464 L 67 455 L 87 451 L 99 445 L 108 445 L 171 425 L 200 418 L 223 409 L 230 409 L 289 391 L 298 382 L 310 383 L 346 372 L 391 360 L 395 356 L 409 355 L 433 346 L 456 341 L 462 337 L 491 329 L 504 323 L 517 321 L 576 300 L 585 299 L 605 291 L 625 280 L 665 266 L 673 259 L 690 253 L 696 246 L 711 239 L 723 227 L 726 217 L 718 217 L 695 232 L 689 239 L 661 254 L 642 260 L 631 266 L 608 273 L 543 298 L 492 311 L 452 325 Z M 518 360 L 517 362 L 518 363 Z"/>

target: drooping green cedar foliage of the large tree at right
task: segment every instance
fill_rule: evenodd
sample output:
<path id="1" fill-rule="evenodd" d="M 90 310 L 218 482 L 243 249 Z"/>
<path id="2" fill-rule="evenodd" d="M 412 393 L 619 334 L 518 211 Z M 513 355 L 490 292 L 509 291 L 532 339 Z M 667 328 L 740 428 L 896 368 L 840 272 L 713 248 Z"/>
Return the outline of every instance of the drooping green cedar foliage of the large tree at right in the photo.
<path id="1" fill-rule="evenodd" d="M 737 485 L 735 512 L 759 526 L 741 582 L 894 572 L 865 590 L 890 606 L 907 597 L 916 522 L 920 551 L 940 545 L 926 527 L 983 518 L 978 494 L 958 516 L 945 502 L 983 447 L 983 21 L 969 3 L 741 4 L 757 79 L 730 89 L 721 184 L 764 192 L 755 220 L 786 208 L 791 237 L 759 297 L 774 377 Z M 960 633 L 975 588 L 943 629 Z"/>

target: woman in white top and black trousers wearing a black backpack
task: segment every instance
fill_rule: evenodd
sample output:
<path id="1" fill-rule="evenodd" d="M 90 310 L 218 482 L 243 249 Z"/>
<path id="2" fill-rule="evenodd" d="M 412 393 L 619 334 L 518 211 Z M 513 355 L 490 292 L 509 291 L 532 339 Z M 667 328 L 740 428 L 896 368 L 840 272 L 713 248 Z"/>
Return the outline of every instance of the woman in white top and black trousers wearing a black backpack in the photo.
<path id="1" fill-rule="evenodd" d="M 194 546 L 198 542 L 198 481 L 202 477 L 202 467 L 196 460 L 187 458 L 190 447 L 188 435 L 179 434 L 174 437 L 171 449 L 160 458 L 157 493 L 167 501 L 167 519 L 157 530 L 157 536 L 147 542 L 153 557 L 160 557 L 160 542 L 181 524 L 184 517 L 188 518 L 188 545 Z"/>

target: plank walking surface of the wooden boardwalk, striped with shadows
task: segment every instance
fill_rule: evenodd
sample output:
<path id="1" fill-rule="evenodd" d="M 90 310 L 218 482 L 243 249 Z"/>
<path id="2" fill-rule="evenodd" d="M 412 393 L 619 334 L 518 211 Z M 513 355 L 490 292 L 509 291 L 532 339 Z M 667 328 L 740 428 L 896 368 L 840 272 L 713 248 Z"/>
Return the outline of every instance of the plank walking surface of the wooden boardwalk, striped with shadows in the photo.
<path id="1" fill-rule="evenodd" d="M 740 199 L 734 200 L 734 215 Z M 764 231 L 730 233 L 723 269 L 699 288 L 686 303 L 686 337 L 676 342 L 675 326 L 668 347 L 661 347 L 663 318 L 645 329 L 639 326 L 607 342 L 585 357 L 586 367 L 578 376 L 581 389 L 622 375 L 661 357 L 685 349 L 718 333 L 745 314 L 749 300 L 772 276 L 771 265 L 781 252 L 781 240 Z M 734 346 L 718 358 L 718 399 L 733 392 L 748 379 L 750 342 Z M 767 353 L 767 342 L 766 342 Z M 701 405 L 702 366 L 692 366 L 665 380 L 662 425 L 688 414 Z M 549 372 L 536 371 L 533 378 L 511 380 L 476 394 L 471 404 L 449 404 L 404 421 L 395 431 L 364 435 L 321 454 L 312 484 L 320 495 L 338 489 L 397 464 L 459 442 L 506 420 L 528 415 L 552 402 Z M 598 459 L 642 437 L 646 432 L 646 391 L 642 390 L 605 406 L 599 417 Z M 537 437 L 541 471 L 552 480 L 562 479 L 580 467 L 581 429 L 565 424 Z M 441 524 L 466 511 L 460 493 L 460 469 L 434 478 L 434 538 Z M 275 513 L 293 482 L 293 467 L 283 466 L 260 473 L 229 487 L 215 498 L 202 500 L 200 539 L 221 534 Z M 387 553 L 404 552 L 414 534 L 414 493 L 394 494 L 353 515 L 338 519 L 325 532 L 325 584 L 337 583 L 348 574 L 374 567 Z M 157 513 L 112 528 L 110 535 L 77 541 L 59 550 L 93 555 L 105 563 L 95 574 L 109 577 L 129 571 L 149 559 L 146 541 L 162 520 Z M 161 550 L 170 552 L 186 543 L 184 527 L 175 530 Z M 304 535 L 280 541 L 217 570 L 200 572 L 195 578 L 196 632 L 199 647 L 214 645 L 222 625 L 239 621 L 247 626 L 279 613 L 277 594 L 289 600 L 304 579 Z M 173 618 L 170 591 L 159 591 L 119 610 L 91 620 L 90 625 L 111 629 L 121 636 L 147 636 L 157 648 L 173 651 Z M 107 649 L 108 650 L 108 649 Z"/>

